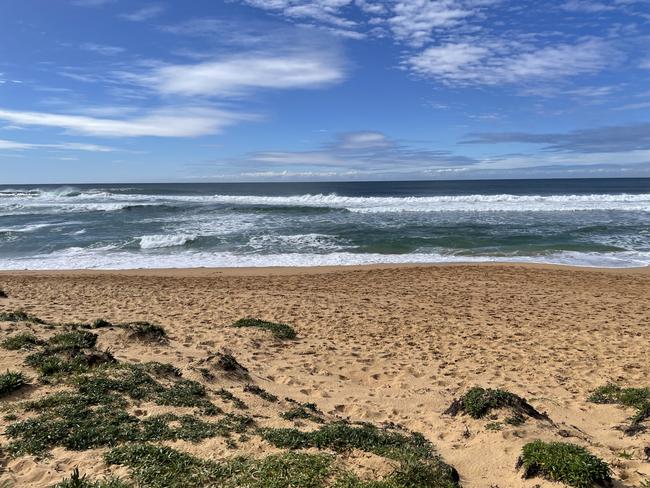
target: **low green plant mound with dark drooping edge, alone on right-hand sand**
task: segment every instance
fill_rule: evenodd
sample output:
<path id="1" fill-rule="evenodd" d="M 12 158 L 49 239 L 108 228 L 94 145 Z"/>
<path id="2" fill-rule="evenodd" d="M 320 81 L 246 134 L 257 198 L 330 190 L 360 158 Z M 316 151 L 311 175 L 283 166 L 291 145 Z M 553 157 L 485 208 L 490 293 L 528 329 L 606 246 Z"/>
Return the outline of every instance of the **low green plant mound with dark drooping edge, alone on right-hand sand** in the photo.
<path id="1" fill-rule="evenodd" d="M 545 413 L 538 412 L 519 395 L 506 390 L 481 387 L 471 388 L 462 397 L 454 400 L 445 413 L 454 417 L 462 412 L 475 419 L 480 419 L 488 415 L 492 410 L 501 408 L 508 408 L 515 415 L 518 415 L 520 423 L 524 416 L 538 420 L 548 420 Z"/>

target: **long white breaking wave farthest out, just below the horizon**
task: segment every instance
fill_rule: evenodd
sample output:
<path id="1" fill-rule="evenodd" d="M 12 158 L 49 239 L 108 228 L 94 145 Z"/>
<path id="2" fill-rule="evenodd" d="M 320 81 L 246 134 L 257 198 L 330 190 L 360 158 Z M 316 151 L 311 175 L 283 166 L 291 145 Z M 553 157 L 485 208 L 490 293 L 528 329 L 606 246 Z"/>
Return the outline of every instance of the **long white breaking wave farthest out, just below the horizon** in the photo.
<path id="1" fill-rule="evenodd" d="M 9 196 L 11 195 L 11 196 Z M 132 205 L 169 203 L 260 205 L 345 209 L 361 213 L 388 212 L 567 212 L 626 210 L 650 212 L 650 193 L 591 195 L 441 195 L 431 197 L 349 197 L 337 194 L 257 195 L 124 195 L 74 188 L 25 195 L 5 194 L 0 209 L 41 209 L 55 212 L 116 211 Z"/>

